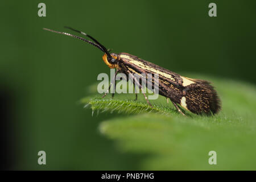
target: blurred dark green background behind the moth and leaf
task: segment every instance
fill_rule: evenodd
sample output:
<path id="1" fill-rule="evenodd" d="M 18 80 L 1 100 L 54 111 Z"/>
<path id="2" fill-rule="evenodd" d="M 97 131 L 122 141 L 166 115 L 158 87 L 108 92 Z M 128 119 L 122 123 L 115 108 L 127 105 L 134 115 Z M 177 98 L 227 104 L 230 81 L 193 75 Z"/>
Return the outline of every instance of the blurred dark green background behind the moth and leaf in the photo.
<path id="1" fill-rule="evenodd" d="M 113 52 L 128 52 L 171 71 L 256 83 L 256 1 L 42 1 L 1 3 L 0 86 L 3 169 L 139 169 L 143 156 L 122 153 L 98 131 L 79 100 L 99 73 L 102 52 L 43 27 L 71 26 Z M 217 17 L 208 16 L 210 2 Z M 70 32 L 70 31 L 69 31 Z M 38 151 L 47 165 L 38 165 Z"/>

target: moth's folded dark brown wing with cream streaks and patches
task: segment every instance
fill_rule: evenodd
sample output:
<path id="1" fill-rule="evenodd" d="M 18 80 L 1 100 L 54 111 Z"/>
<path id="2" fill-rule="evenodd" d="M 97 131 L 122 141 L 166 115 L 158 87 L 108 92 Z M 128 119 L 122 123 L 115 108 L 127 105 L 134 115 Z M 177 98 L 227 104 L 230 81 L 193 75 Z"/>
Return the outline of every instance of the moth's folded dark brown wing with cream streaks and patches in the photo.
<path id="1" fill-rule="evenodd" d="M 124 73 L 151 73 L 159 75 L 159 94 L 180 104 L 184 109 L 196 114 L 217 113 L 220 100 L 208 81 L 180 76 L 159 65 L 139 59 L 129 53 L 119 53 L 119 67 Z"/>

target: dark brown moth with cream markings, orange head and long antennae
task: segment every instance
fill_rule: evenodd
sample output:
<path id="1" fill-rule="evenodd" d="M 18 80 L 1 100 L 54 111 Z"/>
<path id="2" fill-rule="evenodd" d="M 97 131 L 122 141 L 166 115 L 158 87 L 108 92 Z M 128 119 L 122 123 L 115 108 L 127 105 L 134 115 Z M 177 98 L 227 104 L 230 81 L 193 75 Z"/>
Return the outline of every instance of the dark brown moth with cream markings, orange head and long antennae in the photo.
<path id="1" fill-rule="evenodd" d="M 185 114 L 183 113 L 181 107 L 195 114 L 212 115 L 220 111 L 220 98 L 218 97 L 217 92 L 216 90 L 214 90 L 213 86 L 210 85 L 210 82 L 181 76 L 175 72 L 169 71 L 168 69 L 162 68 L 159 65 L 140 59 L 137 56 L 130 55 L 129 53 L 110 53 L 109 49 L 106 49 L 104 46 L 102 46 L 102 44 L 99 43 L 92 36 L 85 34 L 82 31 L 75 30 L 71 27 L 65 28 L 69 28 L 69 30 L 79 32 L 80 34 L 90 38 L 93 42 L 81 38 L 80 36 L 69 34 L 67 32 L 59 32 L 55 30 L 50 30 L 48 28 L 43 29 L 55 32 L 57 34 L 72 36 L 73 38 L 80 39 L 97 47 L 102 52 L 104 52 L 102 59 L 104 60 L 105 64 L 108 65 L 109 68 L 116 69 L 115 76 L 117 76 L 117 73 L 125 73 L 125 75 L 133 75 L 133 73 L 151 73 L 152 75 L 158 74 L 159 94 L 166 97 L 167 102 L 168 99 L 170 99 L 177 111 L 179 111 L 179 113 L 183 115 Z M 113 81 L 115 81 L 115 76 L 110 83 L 109 90 L 113 85 Z M 139 86 L 139 89 L 141 89 L 145 100 L 151 106 L 146 94 L 143 92 L 142 83 L 140 82 L 140 80 L 138 80 L 138 78 L 134 76 L 132 76 L 132 78 L 133 84 Z M 152 80 L 152 82 L 154 82 L 154 80 Z M 105 97 L 106 94 L 109 93 L 109 90 L 104 94 L 103 97 Z"/>

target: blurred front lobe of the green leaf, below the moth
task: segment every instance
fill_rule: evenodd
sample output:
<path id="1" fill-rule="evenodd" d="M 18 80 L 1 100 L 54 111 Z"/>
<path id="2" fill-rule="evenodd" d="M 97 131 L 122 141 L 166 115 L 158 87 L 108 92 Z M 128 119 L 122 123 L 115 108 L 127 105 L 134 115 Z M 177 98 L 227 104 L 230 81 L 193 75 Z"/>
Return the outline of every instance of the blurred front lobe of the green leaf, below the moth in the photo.
<path id="1" fill-rule="evenodd" d="M 255 170 L 255 130 L 227 121 L 220 126 L 222 119 L 143 114 L 102 122 L 100 131 L 119 150 L 144 154 L 141 169 Z M 208 163 L 209 151 L 217 152 L 217 165 Z"/>

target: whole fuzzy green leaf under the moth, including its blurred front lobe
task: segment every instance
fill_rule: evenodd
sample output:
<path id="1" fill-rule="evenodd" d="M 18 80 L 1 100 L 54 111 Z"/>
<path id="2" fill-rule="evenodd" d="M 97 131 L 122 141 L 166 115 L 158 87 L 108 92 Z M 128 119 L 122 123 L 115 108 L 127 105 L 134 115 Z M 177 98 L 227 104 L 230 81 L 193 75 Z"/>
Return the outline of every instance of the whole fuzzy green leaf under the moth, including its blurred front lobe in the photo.
<path id="1" fill-rule="evenodd" d="M 196 77 L 196 76 L 193 76 Z M 198 77 L 198 76 L 197 76 Z M 117 143 L 118 150 L 143 155 L 141 169 L 148 170 L 255 170 L 256 88 L 232 80 L 200 76 L 214 82 L 222 110 L 212 117 L 175 111 L 160 97 L 153 108 L 131 96 L 88 97 L 93 110 L 133 114 L 100 123 L 100 131 Z M 210 165 L 209 151 L 217 152 Z"/>

